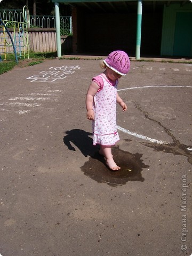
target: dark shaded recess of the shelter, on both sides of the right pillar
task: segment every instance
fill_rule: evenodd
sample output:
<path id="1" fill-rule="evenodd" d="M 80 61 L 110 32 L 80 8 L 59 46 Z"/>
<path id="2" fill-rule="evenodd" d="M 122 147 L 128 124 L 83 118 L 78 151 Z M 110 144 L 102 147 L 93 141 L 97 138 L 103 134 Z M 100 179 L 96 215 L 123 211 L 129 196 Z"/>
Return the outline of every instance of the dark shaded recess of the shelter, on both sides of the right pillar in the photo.
<path id="1" fill-rule="evenodd" d="M 135 2 L 137 6 L 137 3 Z M 137 12 L 90 13 L 88 9 L 73 9 L 73 52 L 108 54 L 121 49 L 135 54 Z M 162 11 L 143 12 L 141 54 L 159 55 L 161 51 Z"/>

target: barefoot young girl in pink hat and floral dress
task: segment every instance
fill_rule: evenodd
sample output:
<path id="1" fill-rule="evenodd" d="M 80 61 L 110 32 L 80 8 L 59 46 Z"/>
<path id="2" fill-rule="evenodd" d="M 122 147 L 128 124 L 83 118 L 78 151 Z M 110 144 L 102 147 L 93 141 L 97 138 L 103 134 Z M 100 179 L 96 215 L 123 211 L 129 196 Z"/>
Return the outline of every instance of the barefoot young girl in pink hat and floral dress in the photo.
<path id="1" fill-rule="evenodd" d="M 101 63 L 105 71 L 92 78 L 86 94 L 87 119 L 92 120 L 93 145 L 100 144 L 99 153 L 113 171 L 121 167 L 114 162 L 111 146 L 119 140 L 116 127 L 116 102 L 127 109 L 117 93 L 118 79 L 130 70 L 130 59 L 123 51 L 111 52 Z"/>

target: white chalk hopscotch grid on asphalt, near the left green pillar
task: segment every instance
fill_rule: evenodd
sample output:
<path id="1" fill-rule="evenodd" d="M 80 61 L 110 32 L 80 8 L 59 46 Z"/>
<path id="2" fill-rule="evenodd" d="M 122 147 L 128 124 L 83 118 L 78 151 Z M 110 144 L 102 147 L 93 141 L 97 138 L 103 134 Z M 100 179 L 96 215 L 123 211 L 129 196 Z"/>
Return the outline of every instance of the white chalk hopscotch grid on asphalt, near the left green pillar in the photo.
<path id="1" fill-rule="evenodd" d="M 27 79 L 31 79 L 30 82 L 55 82 L 73 74 L 79 68 L 79 66 L 51 67 L 50 70 L 41 71 L 39 75 L 30 76 Z"/>

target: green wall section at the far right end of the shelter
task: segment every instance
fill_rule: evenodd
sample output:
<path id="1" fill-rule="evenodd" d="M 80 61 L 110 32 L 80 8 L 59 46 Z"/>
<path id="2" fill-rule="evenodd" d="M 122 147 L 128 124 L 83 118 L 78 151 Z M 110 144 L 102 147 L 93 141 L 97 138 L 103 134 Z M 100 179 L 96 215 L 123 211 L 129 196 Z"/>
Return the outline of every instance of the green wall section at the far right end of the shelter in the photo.
<path id="1" fill-rule="evenodd" d="M 182 22 L 182 25 L 181 25 Z M 161 55 L 192 56 L 192 4 L 164 6 Z"/>

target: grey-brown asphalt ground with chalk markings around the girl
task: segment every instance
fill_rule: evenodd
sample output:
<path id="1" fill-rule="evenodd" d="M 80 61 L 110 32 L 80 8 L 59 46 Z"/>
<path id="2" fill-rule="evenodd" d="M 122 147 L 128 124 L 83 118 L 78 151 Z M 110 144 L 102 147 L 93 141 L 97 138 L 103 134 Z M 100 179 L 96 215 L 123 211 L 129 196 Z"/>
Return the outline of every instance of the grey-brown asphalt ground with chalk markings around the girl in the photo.
<path id="1" fill-rule="evenodd" d="M 86 119 L 101 71 L 54 59 L 1 75 L 2 256 L 192 253 L 192 65 L 131 61 L 118 85 L 118 172 Z"/>

